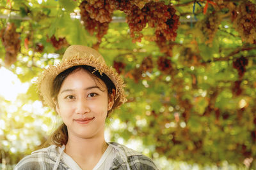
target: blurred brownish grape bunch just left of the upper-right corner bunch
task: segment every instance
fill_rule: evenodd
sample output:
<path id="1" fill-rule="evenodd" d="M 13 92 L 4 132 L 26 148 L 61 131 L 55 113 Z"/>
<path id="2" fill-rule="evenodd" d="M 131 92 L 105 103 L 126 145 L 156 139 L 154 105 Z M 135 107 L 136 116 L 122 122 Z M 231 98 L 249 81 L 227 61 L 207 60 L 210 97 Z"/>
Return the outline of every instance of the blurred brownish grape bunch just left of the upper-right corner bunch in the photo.
<path id="1" fill-rule="evenodd" d="M 220 23 L 221 18 L 215 11 L 207 15 L 201 22 L 196 23 L 196 27 L 202 32 L 201 39 L 204 43 L 212 43 Z"/>

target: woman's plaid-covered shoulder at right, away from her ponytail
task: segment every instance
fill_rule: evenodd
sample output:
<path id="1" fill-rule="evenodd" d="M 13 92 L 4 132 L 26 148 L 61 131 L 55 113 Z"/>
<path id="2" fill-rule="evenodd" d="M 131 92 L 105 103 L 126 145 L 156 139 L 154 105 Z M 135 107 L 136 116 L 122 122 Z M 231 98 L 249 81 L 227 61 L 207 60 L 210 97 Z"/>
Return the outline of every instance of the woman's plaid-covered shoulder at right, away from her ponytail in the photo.
<path id="1" fill-rule="evenodd" d="M 110 144 L 119 148 L 119 152 L 123 152 L 120 153 L 121 155 L 125 154 L 131 169 L 157 169 L 154 161 L 142 153 L 119 143 L 111 142 Z"/>

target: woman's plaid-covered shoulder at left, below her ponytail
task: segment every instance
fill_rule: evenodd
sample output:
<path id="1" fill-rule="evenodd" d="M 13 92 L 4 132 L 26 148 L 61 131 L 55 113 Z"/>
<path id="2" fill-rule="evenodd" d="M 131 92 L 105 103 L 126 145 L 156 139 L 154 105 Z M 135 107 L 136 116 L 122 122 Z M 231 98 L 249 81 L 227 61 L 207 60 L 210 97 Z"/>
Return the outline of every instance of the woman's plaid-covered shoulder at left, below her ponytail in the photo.
<path id="1" fill-rule="evenodd" d="M 48 169 L 47 167 L 52 167 L 55 162 L 54 157 L 58 154 L 56 147 L 56 145 L 51 145 L 32 152 L 21 159 L 14 169 Z"/>

